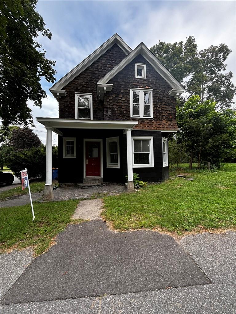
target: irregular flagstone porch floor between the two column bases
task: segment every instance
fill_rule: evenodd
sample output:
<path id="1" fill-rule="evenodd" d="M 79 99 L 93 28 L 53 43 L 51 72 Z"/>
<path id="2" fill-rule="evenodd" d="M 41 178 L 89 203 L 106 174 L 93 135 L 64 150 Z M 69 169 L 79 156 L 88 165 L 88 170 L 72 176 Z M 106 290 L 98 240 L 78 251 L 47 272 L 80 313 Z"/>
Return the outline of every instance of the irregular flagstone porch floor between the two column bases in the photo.
<path id="1" fill-rule="evenodd" d="M 123 185 L 109 184 L 103 187 L 93 187 L 90 189 L 81 189 L 78 187 L 59 187 L 54 191 L 54 201 L 67 201 L 68 199 L 91 198 L 96 194 L 118 195 L 126 192 Z"/>

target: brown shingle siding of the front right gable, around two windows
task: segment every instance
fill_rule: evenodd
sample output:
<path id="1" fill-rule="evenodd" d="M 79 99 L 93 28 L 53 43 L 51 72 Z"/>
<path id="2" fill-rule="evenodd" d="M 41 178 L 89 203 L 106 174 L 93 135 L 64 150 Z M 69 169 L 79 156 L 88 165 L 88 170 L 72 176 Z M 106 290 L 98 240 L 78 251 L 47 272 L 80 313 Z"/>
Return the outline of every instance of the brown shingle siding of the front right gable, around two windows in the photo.
<path id="1" fill-rule="evenodd" d="M 146 77 L 135 78 L 135 63 L 146 64 Z M 104 120 L 138 120 L 135 129 L 177 129 L 176 100 L 168 92 L 172 87 L 140 54 L 109 82 L 110 92 L 104 95 Z M 130 117 L 130 88 L 153 89 L 153 119 Z"/>

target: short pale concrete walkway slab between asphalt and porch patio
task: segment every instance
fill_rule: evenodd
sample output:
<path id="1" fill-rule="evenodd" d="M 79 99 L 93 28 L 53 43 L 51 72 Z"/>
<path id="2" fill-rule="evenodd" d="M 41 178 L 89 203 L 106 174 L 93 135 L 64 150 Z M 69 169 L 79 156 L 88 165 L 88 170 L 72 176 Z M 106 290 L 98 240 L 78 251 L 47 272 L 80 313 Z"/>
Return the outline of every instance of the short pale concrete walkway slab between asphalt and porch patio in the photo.
<path id="1" fill-rule="evenodd" d="M 100 198 L 81 201 L 71 219 L 101 219 L 103 201 Z"/>

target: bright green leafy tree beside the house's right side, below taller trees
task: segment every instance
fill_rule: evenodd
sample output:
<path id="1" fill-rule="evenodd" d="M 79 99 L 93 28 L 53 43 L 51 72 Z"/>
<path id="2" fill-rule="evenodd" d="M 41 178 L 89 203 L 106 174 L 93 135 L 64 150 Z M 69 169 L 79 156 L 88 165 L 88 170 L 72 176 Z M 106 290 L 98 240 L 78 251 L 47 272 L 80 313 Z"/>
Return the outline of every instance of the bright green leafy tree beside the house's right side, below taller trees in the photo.
<path id="1" fill-rule="evenodd" d="M 220 162 L 232 153 L 236 143 L 236 112 L 216 111 L 211 100 L 201 102 L 199 96 L 192 96 L 182 107 L 177 107 L 177 138 L 185 143 L 190 153 L 189 168 L 194 156 L 203 163 L 219 167 Z"/>

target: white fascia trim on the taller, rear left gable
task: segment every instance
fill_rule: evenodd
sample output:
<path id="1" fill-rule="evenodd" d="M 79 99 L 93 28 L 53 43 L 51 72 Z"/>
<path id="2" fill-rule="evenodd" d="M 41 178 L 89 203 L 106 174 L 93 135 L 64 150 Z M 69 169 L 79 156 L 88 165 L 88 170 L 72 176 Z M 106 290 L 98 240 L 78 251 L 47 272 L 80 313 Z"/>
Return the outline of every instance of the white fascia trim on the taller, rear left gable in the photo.
<path id="1" fill-rule="evenodd" d="M 98 49 L 96 49 L 91 55 L 80 62 L 75 68 L 73 68 L 69 73 L 67 73 L 63 78 L 59 79 L 52 87 L 49 88 L 51 92 L 54 90 L 62 89 L 66 84 L 72 81 L 77 75 L 83 72 L 88 66 L 90 66 L 94 61 L 101 57 L 104 52 L 110 49 L 114 44 L 117 44 L 125 53 L 128 55 L 132 49 L 123 41 L 123 39 L 115 34 L 104 42 Z"/>

